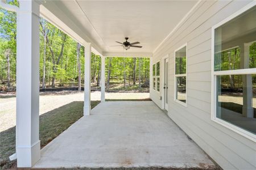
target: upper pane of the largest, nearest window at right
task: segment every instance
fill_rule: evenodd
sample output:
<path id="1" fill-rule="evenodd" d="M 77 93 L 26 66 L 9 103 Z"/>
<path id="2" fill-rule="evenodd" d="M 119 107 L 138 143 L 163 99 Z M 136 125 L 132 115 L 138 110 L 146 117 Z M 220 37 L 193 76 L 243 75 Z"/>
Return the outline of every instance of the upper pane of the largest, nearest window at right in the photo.
<path id="1" fill-rule="evenodd" d="M 256 68 L 256 7 L 214 31 L 214 70 Z"/>

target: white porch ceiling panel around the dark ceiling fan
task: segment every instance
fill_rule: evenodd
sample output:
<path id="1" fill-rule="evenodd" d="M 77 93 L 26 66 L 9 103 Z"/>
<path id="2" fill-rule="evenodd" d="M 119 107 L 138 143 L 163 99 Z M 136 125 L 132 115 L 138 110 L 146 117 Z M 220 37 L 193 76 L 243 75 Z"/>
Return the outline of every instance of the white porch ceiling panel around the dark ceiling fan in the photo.
<path id="1" fill-rule="evenodd" d="M 123 53 L 122 46 L 110 45 L 124 37 L 143 46 L 127 52 L 152 53 L 197 1 L 41 2 L 53 15 L 62 11 L 102 53 Z"/>

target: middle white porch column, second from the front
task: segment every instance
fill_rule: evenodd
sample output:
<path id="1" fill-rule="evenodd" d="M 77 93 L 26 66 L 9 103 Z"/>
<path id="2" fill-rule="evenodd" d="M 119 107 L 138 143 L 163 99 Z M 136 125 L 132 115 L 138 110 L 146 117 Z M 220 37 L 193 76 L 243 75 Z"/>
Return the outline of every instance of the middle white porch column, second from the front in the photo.
<path id="1" fill-rule="evenodd" d="M 90 115 L 90 59 L 92 57 L 92 47 L 90 43 L 87 43 L 84 48 L 84 116 L 88 116 Z"/>

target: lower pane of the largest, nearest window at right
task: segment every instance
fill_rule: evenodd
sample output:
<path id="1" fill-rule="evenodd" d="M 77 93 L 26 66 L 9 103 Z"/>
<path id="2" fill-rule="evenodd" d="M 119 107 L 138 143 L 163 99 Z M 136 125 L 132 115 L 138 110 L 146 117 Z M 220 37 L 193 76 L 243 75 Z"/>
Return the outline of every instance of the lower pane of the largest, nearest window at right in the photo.
<path id="1" fill-rule="evenodd" d="M 256 74 L 217 76 L 216 116 L 256 133 Z"/>

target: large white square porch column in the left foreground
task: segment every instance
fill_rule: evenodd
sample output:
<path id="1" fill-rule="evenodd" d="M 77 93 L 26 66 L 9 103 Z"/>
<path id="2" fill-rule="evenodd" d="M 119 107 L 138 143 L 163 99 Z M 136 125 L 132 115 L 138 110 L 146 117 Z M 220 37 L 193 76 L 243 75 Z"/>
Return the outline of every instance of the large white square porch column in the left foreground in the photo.
<path id="1" fill-rule="evenodd" d="M 19 1 L 16 64 L 18 167 L 32 167 L 40 159 L 39 59 L 39 4 Z"/>

